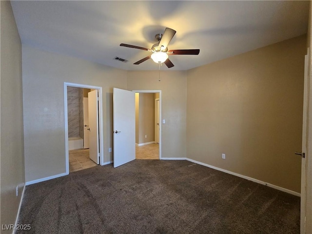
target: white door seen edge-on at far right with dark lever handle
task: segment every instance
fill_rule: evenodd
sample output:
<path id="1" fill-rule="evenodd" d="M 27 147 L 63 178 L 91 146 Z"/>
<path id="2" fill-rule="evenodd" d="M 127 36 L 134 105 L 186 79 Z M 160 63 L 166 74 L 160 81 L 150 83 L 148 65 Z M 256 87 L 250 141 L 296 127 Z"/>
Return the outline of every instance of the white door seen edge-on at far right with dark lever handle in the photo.
<path id="1" fill-rule="evenodd" d="M 301 205 L 300 205 L 300 233 L 305 233 L 306 226 L 306 137 L 307 137 L 307 98 L 308 98 L 308 55 L 305 56 L 304 91 L 303 91 L 303 119 L 302 119 L 302 153 L 301 153 Z M 296 153 L 297 154 L 297 153 Z"/>

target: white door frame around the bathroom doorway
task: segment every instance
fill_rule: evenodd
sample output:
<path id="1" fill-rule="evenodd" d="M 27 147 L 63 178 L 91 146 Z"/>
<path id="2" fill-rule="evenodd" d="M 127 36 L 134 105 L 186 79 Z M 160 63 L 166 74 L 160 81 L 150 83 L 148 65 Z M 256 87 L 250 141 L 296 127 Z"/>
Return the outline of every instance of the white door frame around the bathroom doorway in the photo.
<path id="1" fill-rule="evenodd" d="M 104 165 L 104 141 L 103 141 L 103 95 L 102 87 L 64 82 L 64 133 L 65 133 L 65 169 L 66 175 L 69 175 L 69 152 L 68 152 L 68 108 L 67 108 L 67 87 L 77 87 L 84 89 L 98 90 L 98 128 L 99 128 L 99 165 Z"/>

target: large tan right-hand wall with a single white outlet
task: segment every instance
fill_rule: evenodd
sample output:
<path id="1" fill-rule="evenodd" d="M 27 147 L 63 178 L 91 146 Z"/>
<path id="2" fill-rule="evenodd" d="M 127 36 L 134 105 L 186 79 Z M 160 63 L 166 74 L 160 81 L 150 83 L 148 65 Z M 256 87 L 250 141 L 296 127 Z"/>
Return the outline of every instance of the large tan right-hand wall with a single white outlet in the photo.
<path id="1" fill-rule="evenodd" d="M 305 53 L 306 35 L 189 70 L 187 157 L 300 193 Z"/>

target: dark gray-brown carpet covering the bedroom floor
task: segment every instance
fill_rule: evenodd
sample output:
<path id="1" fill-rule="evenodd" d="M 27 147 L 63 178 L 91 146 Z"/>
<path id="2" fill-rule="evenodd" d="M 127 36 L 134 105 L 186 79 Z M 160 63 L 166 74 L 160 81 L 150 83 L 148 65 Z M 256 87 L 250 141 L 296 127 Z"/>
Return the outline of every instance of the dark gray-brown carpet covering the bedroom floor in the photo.
<path id="1" fill-rule="evenodd" d="M 195 165 L 134 160 L 26 187 L 34 234 L 299 234 L 300 198 Z"/>

